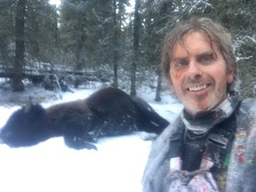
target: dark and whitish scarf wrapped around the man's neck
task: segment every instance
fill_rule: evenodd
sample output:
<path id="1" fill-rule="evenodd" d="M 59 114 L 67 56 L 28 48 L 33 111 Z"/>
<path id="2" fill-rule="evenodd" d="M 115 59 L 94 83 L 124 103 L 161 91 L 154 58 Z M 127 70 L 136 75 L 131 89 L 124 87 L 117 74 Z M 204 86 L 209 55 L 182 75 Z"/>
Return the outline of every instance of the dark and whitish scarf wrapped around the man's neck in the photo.
<path id="1" fill-rule="evenodd" d="M 228 96 L 217 108 L 212 111 L 200 114 L 198 116 L 190 116 L 183 109 L 180 114 L 182 122 L 185 124 L 188 131 L 196 135 L 201 135 L 209 132 L 215 124 L 226 120 L 236 109 L 239 100 L 236 96 Z"/>

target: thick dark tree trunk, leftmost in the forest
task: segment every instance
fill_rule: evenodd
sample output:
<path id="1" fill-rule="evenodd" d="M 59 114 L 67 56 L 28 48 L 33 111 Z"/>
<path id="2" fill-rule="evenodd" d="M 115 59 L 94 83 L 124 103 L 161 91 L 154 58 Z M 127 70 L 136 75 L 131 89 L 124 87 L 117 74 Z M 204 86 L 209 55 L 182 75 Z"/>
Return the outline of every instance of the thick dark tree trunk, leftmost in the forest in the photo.
<path id="1" fill-rule="evenodd" d="M 25 30 L 25 14 L 27 0 L 17 1 L 17 10 L 15 17 L 15 61 L 13 67 L 12 90 L 20 92 L 24 90 L 22 83 L 22 68 L 24 66 L 24 30 Z"/>

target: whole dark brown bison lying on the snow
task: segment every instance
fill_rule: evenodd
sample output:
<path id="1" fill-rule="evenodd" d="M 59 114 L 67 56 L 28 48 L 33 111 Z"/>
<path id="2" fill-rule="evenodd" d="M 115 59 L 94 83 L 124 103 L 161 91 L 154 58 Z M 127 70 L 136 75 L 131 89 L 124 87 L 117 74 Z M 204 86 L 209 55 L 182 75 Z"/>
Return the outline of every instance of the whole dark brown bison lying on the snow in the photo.
<path id="1" fill-rule="evenodd" d="M 63 136 L 69 148 L 97 149 L 92 143 L 100 137 L 134 131 L 159 134 L 168 124 L 146 101 L 108 87 L 84 100 L 20 108 L 0 130 L 0 140 L 17 148 Z"/>

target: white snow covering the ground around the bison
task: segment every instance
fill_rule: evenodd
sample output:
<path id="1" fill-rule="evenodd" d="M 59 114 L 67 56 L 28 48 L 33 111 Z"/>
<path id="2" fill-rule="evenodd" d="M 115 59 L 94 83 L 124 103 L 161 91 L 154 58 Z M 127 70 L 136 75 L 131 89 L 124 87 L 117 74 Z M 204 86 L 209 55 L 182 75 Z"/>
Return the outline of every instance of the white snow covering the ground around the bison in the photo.
<path id="1" fill-rule="evenodd" d="M 99 88 L 73 89 L 73 92 L 61 93 L 61 97 L 59 92 L 57 99 L 44 100 L 41 104 L 47 108 L 60 102 L 84 99 Z M 172 123 L 182 109 L 180 102 L 168 92 L 156 102 L 155 93 L 141 88 L 137 95 Z M 5 93 L 1 94 L 6 97 Z M 31 94 L 44 97 L 42 90 Z M 7 101 L 1 103 L 0 129 L 19 108 Z M 127 136 L 102 138 L 96 144 L 98 151 L 68 148 L 61 137 L 28 148 L 9 148 L 0 144 L 0 191 L 140 192 L 141 178 L 154 142 L 145 140 L 146 137 L 146 132 L 134 132 Z"/>

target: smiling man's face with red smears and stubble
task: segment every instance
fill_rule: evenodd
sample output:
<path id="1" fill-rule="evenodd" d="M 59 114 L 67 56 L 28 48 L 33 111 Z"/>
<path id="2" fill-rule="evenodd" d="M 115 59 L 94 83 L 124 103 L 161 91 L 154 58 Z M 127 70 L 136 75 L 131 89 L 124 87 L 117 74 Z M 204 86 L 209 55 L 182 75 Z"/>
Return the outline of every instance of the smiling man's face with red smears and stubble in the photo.
<path id="1" fill-rule="evenodd" d="M 217 107 L 227 98 L 227 85 L 233 82 L 233 71 L 209 37 L 200 32 L 184 36 L 177 43 L 170 63 L 172 91 L 176 92 L 186 111 L 197 113 Z"/>

